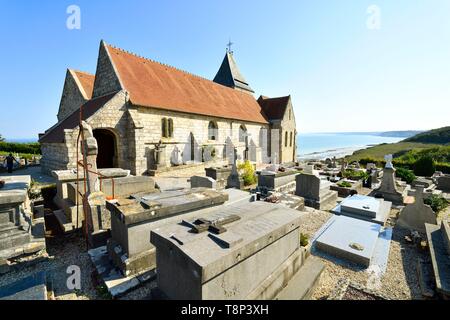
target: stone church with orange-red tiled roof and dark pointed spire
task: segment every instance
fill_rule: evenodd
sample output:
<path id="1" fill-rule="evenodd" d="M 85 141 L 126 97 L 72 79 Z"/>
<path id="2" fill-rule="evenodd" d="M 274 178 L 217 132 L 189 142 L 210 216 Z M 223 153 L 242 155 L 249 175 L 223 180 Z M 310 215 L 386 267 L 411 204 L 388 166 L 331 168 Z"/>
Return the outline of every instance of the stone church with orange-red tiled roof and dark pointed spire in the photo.
<path id="1" fill-rule="evenodd" d="M 39 135 L 43 172 L 77 167 L 80 120 L 98 168 L 134 175 L 238 161 L 296 161 L 290 96 L 254 96 L 231 50 L 211 81 L 101 41 L 95 75 L 68 69 L 58 122 Z M 81 155 L 78 155 L 81 159 Z"/>

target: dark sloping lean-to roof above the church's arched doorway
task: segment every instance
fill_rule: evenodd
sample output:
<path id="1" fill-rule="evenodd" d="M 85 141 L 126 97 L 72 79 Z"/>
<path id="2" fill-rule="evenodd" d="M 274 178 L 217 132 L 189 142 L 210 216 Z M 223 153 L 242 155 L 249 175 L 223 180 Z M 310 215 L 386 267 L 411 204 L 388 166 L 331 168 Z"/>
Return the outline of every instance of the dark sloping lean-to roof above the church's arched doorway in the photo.
<path id="1" fill-rule="evenodd" d="M 98 110 L 100 110 L 105 103 L 112 99 L 117 92 L 107 94 L 103 97 L 98 97 L 89 100 L 83 105 L 83 120 L 86 120 Z M 61 143 L 64 142 L 64 129 L 73 129 L 80 124 L 80 109 L 75 110 L 70 116 L 63 121 L 57 123 L 55 126 L 47 130 L 44 135 L 39 138 L 40 143 Z"/>

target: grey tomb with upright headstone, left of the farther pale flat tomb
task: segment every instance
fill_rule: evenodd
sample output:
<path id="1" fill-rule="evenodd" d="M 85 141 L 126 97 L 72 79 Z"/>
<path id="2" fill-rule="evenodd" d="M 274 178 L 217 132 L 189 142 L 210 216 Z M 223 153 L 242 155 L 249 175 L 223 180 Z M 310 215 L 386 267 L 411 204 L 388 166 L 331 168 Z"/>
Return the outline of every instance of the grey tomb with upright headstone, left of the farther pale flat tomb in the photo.
<path id="1" fill-rule="evenodd" d="M 301 173 L 295 177 L 297 196 L 305 198 L 305 205 L 319 210 L 335 206 L 338 193 L 330 190 L 331 182 L 322 180 L 315 174 Z"/>

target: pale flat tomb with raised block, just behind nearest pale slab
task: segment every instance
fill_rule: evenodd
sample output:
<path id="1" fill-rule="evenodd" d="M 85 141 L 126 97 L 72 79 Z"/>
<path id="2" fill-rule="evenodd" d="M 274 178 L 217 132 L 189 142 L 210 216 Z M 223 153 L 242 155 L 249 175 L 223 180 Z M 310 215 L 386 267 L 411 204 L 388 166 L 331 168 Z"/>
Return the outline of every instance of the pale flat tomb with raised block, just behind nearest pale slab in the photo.
<path id="1" fill-rule="evenodd" d="M 390 201 L 356 194 L 345 198 L 331 212 L 384 225 L 389 217 L 391 207 Z"/>

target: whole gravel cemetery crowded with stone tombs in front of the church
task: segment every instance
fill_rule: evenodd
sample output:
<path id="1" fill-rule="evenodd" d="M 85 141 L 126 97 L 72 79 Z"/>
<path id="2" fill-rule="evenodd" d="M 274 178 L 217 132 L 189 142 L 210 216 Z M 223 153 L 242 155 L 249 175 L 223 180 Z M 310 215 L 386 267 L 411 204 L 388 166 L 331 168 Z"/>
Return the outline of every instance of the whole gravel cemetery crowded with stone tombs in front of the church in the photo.
<path id="1" fill-rule="evenodd" d="M 83 128 L 95 163 L 96 140 Z M 336 158 L 255 165 L 256 184 L 244 186 L 235 154 L 169 188 L 163 171 L 53 170 L 50 205 L 30 199 L 39 186 L 29 175 L 1 177 L 0 299 L 77 299 L 50 271 L 63 270 L 55 254 L 90 270 L 97 284 L 84 276 L 81 289 L 89 299 L 449 296 L 447 209 L 427 204 L 448 198 L 446 175 L 408 184 L 387 155 L 383 168 Z M 16 278 L 25 266 L 35 272 Z"/>

